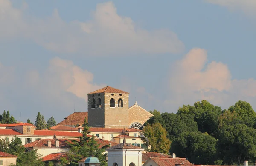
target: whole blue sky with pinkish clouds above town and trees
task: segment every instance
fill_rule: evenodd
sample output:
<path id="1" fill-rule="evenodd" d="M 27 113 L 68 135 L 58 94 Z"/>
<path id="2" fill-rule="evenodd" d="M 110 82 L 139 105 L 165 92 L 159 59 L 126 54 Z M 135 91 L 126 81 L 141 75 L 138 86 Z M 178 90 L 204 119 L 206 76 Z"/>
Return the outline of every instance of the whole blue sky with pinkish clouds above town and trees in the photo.
<path id="1" fill-rule="evenodd" d="M 0 112 L 59 123 L 105 86 L 146 110 L 256 109 L 255 29 L 255 0 L 0 0 Z"/>

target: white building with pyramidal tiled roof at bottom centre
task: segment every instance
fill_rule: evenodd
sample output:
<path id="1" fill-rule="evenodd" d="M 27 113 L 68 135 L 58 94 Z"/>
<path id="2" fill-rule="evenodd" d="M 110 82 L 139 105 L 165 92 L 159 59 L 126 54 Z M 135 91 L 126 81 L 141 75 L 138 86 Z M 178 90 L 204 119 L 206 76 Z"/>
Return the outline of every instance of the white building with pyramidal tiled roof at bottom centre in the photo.
<path id="1" fill-rule="evenodd" d="M 106 149 L 108 151 L 108 166 L 142 166 L 143 149 L 126 143 L 111 146 Z"/>

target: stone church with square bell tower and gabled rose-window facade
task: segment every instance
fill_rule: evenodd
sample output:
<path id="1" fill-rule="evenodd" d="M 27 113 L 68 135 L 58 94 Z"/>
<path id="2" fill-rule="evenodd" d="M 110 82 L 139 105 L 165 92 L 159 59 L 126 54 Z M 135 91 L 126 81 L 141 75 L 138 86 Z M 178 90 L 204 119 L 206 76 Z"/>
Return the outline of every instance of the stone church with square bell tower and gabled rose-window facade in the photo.
<path id="1" fill-rule="evenodd" d="M 87 95 L 90 127 L 141 129 L 153 116 L 137 102 L 129 107 L 129 93 L 110 86 Z"/>

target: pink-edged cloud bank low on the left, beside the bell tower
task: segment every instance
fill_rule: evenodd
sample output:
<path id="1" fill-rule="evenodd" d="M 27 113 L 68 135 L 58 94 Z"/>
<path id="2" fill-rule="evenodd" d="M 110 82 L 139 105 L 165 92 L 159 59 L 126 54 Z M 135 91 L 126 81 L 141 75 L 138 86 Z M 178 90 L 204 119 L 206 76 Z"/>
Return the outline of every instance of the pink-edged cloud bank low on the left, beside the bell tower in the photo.
<path id="1" fill-rule="evenodd" d="M 0 64 L 0 99 L 1 109 L 9 109 L 16 119 L 22 111 L 21 120 L 35 120 L 41 112 L 46 120 L 54 116 L 59 122 L 73 112 L 74 104 L 76 111 L 87 111 L 87 93 L 105 86 L 93 83 L 91 72 L 58 57 L 43 72 L 18 70 Z"/>

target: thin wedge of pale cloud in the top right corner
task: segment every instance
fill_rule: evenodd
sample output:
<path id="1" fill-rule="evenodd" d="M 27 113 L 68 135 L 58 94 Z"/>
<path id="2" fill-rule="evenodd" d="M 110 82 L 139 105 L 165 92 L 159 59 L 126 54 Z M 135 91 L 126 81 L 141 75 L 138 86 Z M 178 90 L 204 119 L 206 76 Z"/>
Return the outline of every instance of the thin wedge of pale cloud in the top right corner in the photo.
<path id="1" fill-rule="evenodd" d="M 231 11 L 243 11 L 251 16 L 256 14 L 256 0 L 206 0 L 209 3 L 227 7 Z"/>

